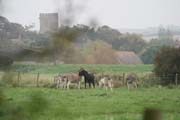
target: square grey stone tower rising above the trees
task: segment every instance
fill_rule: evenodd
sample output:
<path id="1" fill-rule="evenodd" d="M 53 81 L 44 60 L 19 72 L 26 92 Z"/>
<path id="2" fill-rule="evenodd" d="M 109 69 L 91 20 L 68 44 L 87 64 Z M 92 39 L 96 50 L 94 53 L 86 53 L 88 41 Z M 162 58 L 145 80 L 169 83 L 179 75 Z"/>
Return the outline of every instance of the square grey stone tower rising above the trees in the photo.
<path id="1" fill-rule="evenodd" d="M 40 33 L 52 33 L 58 30 L 58 13 L 40 14 Z"/>

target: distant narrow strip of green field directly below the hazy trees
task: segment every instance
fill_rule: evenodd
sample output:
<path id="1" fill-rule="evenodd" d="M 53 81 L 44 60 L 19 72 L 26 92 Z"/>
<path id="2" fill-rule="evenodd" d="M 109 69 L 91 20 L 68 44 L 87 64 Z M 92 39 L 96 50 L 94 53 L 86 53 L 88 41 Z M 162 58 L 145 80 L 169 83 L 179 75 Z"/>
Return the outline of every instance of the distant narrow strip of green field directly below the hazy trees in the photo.
<path id="1" fill-rule="evenodd" d="M 42 73 L 42 74 L 58 74 L 58 73 L 77 73 L 83 67 L 88 71 L 95 73 L 148 73 L 153 70 L 153 65 L 85 65 L 85 64 L 59 64 L 59 65 L 13 65 L 14 71 Z"/>

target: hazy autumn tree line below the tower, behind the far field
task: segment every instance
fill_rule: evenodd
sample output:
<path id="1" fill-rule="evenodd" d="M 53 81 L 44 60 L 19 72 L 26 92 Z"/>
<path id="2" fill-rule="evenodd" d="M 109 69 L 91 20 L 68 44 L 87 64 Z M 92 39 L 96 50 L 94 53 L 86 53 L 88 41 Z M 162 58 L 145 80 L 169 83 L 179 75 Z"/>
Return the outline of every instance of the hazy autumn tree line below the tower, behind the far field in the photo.
<path id="1" fill-rule="evenodd" d="M 31 31 L 31 27 L 23 27 L 17 23 L 10 23 L 1 17 L 0 42 L 11 44 L 10 39 L 18 38 L 25 43 L 27 49 L 15 55 L 16 60 L 64 61 L 65 63 L 101 63 L 97 56 L 106 50 L 106 63 L 114 61 L 114 51 L 133 51 L 145 64 L 154 63 L 156 53 L 163 46 L 174 46 L 173 34 L 165 28 L 159 29 L 159 37 L 147 42 L 140 34 L 121 33 L 109 26 L 93 28 L 87 25 L 61 26 L 56 33 L 39 34 Z M 8 42 L 7 42 L 8 41 Z M 2 45 L 2 44 L 1 44 Z M 4 49 L 1 46 L 1 49 Z M 17 47 L 17 46 L 14 46 Z M 42 52 L 37 53 L 40 49 Z M 105 49 L 106 48 L 106 49 Z M 31 51 L 27 51 L 31 50 Z M 34 50 L 34 51 L 33 51 Z M 96 50 L 98 52 L 96 52 Z M 102 51 L 102 52 L 101 52 Z M 99 55 L 97 55 L 99 54 Z M 103 58 L 103 57 L 102 57 Z M 104 58 L 105 59 L 105 58 Z"/>

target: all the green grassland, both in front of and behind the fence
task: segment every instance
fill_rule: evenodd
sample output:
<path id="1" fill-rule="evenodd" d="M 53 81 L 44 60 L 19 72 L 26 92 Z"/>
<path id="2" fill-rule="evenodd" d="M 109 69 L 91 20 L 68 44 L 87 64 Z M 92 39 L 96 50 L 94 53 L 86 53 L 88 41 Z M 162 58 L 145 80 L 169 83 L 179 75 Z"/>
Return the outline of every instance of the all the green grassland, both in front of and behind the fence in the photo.
<path id="1" fill-rule="evenodd" d="M 3 90 L 2 93 L 0 91 L 0 119 L 143 120 L 143 113 L 147 108 L 160 110 L 163 113 L 163 120 L 180 119 L 179 86 L 140 86 L 132 91 L 128 91 L 124 86 L 114 88 L 111 92 L 99 88 L 62 90 L 30 85 L 32 81 L 36 84 L 37 73 L 40 73 L 40 83 L 51 80 L 50 84 L 53 84 L 54 75 L 78 73 L 81 67 L 97 74 L 137 73 L 139 75 L 153 71 L 153 65 L 15 64 L 11 68 L 15 75 L 8 72 L 6 77 L 12 74 L 15 77 L 11 79 L 17 81 L 17 73 L 21 72 L 22 86 L 0 87 L 0 90 Z M 1 80 L 5 78 L 2 76 L 4 76 L 3 72 L 0 74 Z M 2 98 L 7 100 L 3 106 Z"/>

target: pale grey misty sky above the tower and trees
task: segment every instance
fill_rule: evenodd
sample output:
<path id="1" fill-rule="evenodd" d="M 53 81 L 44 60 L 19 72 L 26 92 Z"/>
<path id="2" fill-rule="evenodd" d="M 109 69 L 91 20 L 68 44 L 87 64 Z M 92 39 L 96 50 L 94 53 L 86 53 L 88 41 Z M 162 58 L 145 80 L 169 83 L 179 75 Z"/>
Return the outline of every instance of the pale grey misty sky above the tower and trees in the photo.
<path id="1" fill-rule="evenodd" d="M 74 23 L 96 19 L 113 28 L 180 26 L 180 0 L 74 0 L 67 13 L 64 0 L 4 0 L 2 15 L 12 22 L 39 28 L 39 13 L 59 11 L 60 18 L 73 14 Z M 66 0 L 67 1 L 67 0 Z"/>

